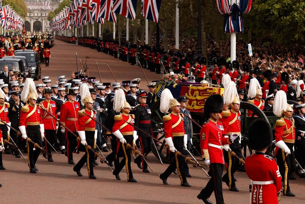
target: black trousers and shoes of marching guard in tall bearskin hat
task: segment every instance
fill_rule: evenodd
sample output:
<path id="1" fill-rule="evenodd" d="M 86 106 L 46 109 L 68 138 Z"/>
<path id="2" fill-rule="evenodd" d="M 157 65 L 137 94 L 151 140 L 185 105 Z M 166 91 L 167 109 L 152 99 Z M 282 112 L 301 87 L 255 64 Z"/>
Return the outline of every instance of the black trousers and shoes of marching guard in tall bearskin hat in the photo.
<path id="1" fill-rule="evenodd" d="M 213 191 L 215 194 L 215 199 L 217 204 L 223 204 L 224 198 L 222 195 L 222 170 L 224 165 L 220 163 L 211 163 L 210 170 L 208 174 L 210 175 L 210 181 L 206 184 L 206 187 L 203 188 L 200 192 L 203 198 L 210 198 Z"/>

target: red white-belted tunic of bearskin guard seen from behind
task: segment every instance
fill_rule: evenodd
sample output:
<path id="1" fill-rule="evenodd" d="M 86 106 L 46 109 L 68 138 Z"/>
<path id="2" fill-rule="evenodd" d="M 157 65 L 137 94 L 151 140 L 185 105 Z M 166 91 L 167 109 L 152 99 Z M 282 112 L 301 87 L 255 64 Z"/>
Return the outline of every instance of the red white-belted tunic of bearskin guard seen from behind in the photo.
<path id="1" fill-rule="evenodd" d="M 275 160 L 264 153 L 257 152 L 246 157 L 244 165 L 246 173 L 252 181 L 274 181 L 274 183 L 266 185 L 253 184 L 251 203 L 278 203 L 277 193 L 281 192 L 282 181 Z"/>

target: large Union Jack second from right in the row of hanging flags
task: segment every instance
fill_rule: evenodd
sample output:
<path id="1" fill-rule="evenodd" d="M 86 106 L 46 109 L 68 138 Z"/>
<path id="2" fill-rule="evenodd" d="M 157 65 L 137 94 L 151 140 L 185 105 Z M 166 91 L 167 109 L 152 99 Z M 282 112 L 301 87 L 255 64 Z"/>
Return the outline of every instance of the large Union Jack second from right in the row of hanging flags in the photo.
<path id="1" fill-rule="evenodd" d="M 137 0 L 114 0 L 112 12 L 121 14 L 129 19 L 135 19 Z"/>

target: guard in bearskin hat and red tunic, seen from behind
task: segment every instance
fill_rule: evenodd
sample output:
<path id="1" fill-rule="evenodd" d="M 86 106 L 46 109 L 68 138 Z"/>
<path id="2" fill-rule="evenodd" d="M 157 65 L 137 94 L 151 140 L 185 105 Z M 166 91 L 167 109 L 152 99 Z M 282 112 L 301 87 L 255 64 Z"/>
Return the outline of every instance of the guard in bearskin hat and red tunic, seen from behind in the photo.
<path id="1" fill-rule="evenodd" d="M 272 144 L 270 124 L 264 119 L 253 121 L 248 128 L 249 146 L 255 154 L 246 157 L 245 170 L 251 179 L 252 204 L 276 204 L 281 195 L 281 174 L 275 160 L 265 155 Z"/>

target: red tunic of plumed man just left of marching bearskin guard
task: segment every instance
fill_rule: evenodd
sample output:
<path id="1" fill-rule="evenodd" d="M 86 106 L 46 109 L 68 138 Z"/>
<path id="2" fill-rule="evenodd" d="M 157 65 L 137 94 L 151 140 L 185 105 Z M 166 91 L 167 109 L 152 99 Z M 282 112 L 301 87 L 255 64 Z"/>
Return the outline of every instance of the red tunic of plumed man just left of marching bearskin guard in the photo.
<path id="1" fill-rule="evenodd" d="M 171 112 L 163 116 L 165 137 L 184 136 L 183 114 Z"/>

